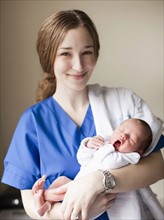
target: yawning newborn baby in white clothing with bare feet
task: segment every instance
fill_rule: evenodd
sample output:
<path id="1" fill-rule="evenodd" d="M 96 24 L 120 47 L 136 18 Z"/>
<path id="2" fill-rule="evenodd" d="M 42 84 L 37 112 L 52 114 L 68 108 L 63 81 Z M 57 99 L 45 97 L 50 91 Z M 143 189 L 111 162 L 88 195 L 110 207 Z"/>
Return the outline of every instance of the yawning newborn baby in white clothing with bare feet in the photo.
<path id="1" fill-rule="evenodd" d="M 127 119 L 113 132 L 111 136 L 100 135 L 85 138 L 77 153 L 81 169 L 75 178 L 79 178 L 96 169 L 117 169 L 127 164 L 136 164 L 152 142 L 152 131 L 149 125 L 141 119 Z M 38 179 L 32 191 L 34 207 L 40 216 L 50 208 L 52 202 L 44 200 L 44 181 L 46 176 Z M 67 177 L 59 177 L 50 188 L 56 188 L 70 181 Z M 56 201 L 62 201 L 64 195 L 59 195 Z"/>

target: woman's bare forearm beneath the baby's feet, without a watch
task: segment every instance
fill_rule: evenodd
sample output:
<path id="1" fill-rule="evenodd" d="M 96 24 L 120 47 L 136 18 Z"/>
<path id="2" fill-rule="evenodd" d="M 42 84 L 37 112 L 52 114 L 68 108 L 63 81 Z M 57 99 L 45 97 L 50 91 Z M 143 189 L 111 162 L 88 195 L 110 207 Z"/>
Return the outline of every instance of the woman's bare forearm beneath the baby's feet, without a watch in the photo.
<path id="1" fill-rule="evenodd" d="M 39 216 L 34 209 L 33 206 L 33 197 L 32 197 L 32 190 L 22 190 L 22 201 L 24 209 L 27 215 L 32 219 L 57 219 L 61 218 L 60 207 L 61 203 L 56 202 L 51 206 L 51 210 L 49 210 L 44 216 Z"/>

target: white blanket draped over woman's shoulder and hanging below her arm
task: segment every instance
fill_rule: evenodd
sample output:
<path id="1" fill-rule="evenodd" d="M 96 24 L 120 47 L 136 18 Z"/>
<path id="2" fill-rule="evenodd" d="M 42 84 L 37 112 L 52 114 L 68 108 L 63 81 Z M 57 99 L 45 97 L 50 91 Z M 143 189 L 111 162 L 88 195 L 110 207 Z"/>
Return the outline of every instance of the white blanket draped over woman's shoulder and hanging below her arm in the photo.
<path id="1" fill-rule="evenodd" d="M 153 132 L 152 144 L 144 156 L 154 149 L 163 130 L 162 122 L 140 97 L 124 88 L 106 88 L 97 84 L 89 86 L 89 99 L 97 135 L 112 134 L 125 119 L 141 118 L 150 125 Z M 125 200 L 130 201 L 128 207 Z M 150 187 L 120 193 L 108 215 L 110 220 L 164 219 L 162 207 Z"/>

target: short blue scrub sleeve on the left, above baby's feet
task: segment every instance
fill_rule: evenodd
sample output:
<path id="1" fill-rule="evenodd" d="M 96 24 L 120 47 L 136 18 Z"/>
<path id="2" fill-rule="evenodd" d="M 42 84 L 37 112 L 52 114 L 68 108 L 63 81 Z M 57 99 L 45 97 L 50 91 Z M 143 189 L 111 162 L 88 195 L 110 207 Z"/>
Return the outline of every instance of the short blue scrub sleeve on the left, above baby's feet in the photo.
<path id="1" fill-rule="evenodd" d="M 40 174 L 37 129 L 32 110 L 20 118 L 4 160 L 2 182 L 18 189 L 31 189 Z"/>

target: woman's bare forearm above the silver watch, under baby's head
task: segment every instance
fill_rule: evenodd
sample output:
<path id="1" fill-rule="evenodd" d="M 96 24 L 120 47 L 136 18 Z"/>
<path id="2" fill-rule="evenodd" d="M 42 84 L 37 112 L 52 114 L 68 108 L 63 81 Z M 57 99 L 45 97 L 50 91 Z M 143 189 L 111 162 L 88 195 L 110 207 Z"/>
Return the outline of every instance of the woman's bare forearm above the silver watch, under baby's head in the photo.
<path id="1" fill-rule="evenodd" d="M 112 192 L 125 192 L 149 186 L 164 178 L 164 161 L 161 152 L 142 158 L 136 165 L 111 170 L 116 181 Z"/>

